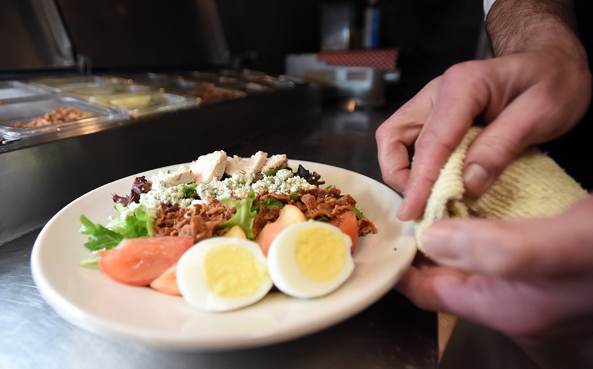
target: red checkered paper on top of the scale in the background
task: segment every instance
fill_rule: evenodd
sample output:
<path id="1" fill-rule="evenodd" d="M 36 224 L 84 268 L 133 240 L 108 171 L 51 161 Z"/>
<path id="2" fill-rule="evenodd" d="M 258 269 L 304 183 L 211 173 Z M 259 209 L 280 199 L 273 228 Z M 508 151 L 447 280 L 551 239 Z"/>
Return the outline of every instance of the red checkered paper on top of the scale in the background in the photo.
<path id="1" fill-rule="evenodd" d="M 319 52 L 317 60 L 327 65 L 362 66 L 382 70 L 395 70 L 399 49 L 372 49 Z"/>

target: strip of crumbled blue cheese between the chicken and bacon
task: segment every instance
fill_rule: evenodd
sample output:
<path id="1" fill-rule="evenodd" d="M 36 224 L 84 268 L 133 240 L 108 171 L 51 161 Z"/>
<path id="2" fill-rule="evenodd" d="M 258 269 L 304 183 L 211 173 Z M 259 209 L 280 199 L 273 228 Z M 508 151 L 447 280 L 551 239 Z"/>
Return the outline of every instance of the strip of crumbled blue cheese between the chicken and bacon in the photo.
<path id="1" fill-rule="evenodd" d="M 295 177 L 294 173 L 288 169 L 280 169 L 273 176 L 266 176 L 259 181 L 255 180 L 255 174 L 234 174 L 230 178 L 222 181 L 211 181 L 209 183 L 200 183 L 197 185 L 196 192 L 200 199 L 183 198 L 184 192 L 180 190 L 179 185 L 170 185 L 166 181 L 157 180 L 152 183 L 152 190 L 146 194 L 140 195 L 139 203 L 130 203 L 127 210 L 122 215 L 132 215 L 133 210 L 144 204 L 152 219 L 157 217 L 157 207 L 159 203 L 167 205 L 179 204 L 181 208 L 189 207 L 195 203 L 201 203 L 206 197 L 212 197 L 216 200 L 229 198 L 232 195 L 245 197 L 250 192 L 261 192 L 269 190 L 277 194 L 288 194 L 289 192 L 299 192 L 315 188 L 304 178 Z"/>

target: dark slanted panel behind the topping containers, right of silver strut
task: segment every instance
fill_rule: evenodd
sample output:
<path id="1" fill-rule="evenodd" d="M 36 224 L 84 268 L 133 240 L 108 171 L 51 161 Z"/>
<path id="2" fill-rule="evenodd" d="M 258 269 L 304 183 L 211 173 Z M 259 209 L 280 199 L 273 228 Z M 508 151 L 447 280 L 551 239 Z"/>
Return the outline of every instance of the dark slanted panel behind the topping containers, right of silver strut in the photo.
<path id="1" fill-rule="evenodd" d="M 214 0 L 149 6 L 119 0 L 56 0 L 76 51 L 98 69 L 226 66 L 227 39 Z M 144 68 L 144 69 L 145 69 Z"/>

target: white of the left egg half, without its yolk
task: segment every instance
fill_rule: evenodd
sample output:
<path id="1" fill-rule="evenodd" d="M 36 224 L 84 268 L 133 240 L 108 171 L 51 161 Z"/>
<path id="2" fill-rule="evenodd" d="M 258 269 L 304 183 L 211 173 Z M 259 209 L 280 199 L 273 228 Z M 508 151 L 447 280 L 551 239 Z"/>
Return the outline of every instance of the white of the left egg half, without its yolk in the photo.
<path id="1" fill-rule="evenodd" d="M 266 268 L 262 283 L 255 293 L 244 297 L 224 297 L 212 291 L 203 278 L 206 256 L 219 246 L 232 245 L 250 252 L 257 263 Z M 238 238 L 216 237 L 202 240 L 187 250 L 177 262 L 177 285 L 181 296 L 191 306 L 205 312 L 225 312 L 239 309 L 261 300 L 272 288 L 272 279 L 267 274 L 266 256 L 257 243 Z"/>

